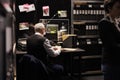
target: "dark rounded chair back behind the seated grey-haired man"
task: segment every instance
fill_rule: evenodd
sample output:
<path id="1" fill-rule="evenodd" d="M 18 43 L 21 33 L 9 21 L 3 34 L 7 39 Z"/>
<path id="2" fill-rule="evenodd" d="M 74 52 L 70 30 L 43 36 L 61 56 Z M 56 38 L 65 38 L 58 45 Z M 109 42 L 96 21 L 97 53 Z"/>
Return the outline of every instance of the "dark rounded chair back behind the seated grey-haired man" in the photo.
<path id="1" fill-rule="evenodd" d="M 17 80 L 50 80 L 44 63 L 33 55 L 23 55 L 18 66 Z"/>

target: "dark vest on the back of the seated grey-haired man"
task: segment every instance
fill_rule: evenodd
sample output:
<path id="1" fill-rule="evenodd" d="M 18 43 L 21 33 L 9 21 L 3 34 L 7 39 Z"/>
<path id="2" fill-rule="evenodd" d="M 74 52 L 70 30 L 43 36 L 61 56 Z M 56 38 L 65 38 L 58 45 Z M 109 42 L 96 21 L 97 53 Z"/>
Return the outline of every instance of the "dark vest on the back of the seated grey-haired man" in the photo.
<path id="1" fill-rule="evenodd" d="M 40 35 L 32 35 L 27 39 L 27 52 L 40 59 L 44 64 L 47 63 L 47 52 L 43 46 L 45 37 Z"/>

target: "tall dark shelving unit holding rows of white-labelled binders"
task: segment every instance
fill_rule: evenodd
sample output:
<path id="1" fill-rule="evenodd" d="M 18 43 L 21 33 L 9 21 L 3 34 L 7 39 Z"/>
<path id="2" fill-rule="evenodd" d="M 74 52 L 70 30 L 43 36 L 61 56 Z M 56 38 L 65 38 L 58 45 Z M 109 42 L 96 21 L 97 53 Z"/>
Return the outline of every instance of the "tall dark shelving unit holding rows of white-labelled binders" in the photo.
<path id="1" fill-rule="evenodd" d="M 81 75 L 101 73 L 102 41 L 98 22 L 105 14 L 103 0 L 73 0 L 71 11 L 71 32 L 77 34 L 78 47 L 86 50 L 81 56 Z"/>

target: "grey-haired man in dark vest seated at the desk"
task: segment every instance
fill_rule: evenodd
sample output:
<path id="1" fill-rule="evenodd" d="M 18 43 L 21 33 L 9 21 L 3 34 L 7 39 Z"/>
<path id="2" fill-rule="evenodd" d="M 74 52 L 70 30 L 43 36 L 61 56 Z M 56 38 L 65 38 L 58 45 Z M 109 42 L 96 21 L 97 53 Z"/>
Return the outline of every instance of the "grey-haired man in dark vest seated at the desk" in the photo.
<path id="1" fill-rule="evenodd" d="M 52 64 L 47 57 L 56 57 L 60 55 L 61 47 L 51 46 L 50 41 L 44 37 L 46 29 L 43 23 L 37 23 L 34 26 L 35 34 L 27 39 L 27 52 L 41 60 L 47 67 L 51 76 L 59 78 L 63 72 L 63 67 L 58 64 Z"/>

